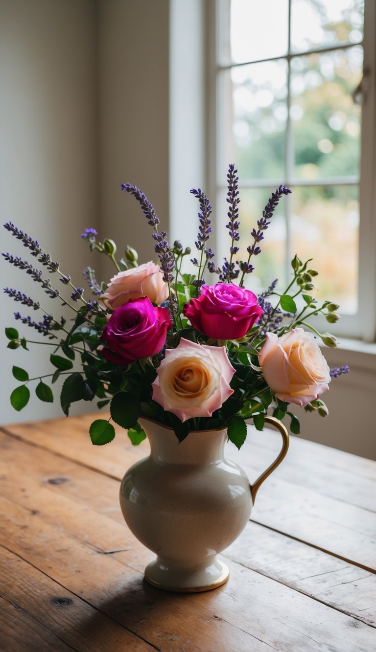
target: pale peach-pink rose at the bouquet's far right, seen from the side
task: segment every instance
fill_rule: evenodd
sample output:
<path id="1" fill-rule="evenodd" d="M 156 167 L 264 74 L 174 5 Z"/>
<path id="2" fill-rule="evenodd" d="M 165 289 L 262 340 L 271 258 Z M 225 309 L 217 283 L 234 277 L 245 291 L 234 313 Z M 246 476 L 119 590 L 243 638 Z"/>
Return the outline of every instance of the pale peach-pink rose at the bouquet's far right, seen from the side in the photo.
<path id="1" fill-rule="evenodd" d="M 304 406 L 329 389 L 330 370 L 312 333 L 295 328 L 266 333 L 259 353 L 262 374 L 281 401 Z"/>

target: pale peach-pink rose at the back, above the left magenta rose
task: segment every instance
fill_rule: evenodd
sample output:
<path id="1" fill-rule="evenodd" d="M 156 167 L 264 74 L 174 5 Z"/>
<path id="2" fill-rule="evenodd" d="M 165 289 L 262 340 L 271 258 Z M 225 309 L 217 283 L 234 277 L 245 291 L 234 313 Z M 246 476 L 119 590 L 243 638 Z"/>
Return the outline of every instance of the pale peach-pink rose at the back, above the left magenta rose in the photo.
<path id="1" fill-rule="evenodd" d="M 148 297 L 151 303 L 155 304 L 163 303 L 168 297 L 168 286 L 163 280 L 163 272 L 151 261 L 113 276 L 101 299 L 106 308 L 115 310 L 129 299 L 140 297 Z"/>

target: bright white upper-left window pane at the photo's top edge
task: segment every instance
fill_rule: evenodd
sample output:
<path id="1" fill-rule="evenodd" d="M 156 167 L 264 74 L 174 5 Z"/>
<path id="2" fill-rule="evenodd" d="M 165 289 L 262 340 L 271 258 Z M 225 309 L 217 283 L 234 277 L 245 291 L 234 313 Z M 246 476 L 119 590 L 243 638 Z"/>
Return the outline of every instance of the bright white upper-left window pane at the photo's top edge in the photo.
<path id="1" fill-rule="evenodd" d="M 287 54 L 288 0 L 231 0 L 230 47 L 236 63 Z"/>

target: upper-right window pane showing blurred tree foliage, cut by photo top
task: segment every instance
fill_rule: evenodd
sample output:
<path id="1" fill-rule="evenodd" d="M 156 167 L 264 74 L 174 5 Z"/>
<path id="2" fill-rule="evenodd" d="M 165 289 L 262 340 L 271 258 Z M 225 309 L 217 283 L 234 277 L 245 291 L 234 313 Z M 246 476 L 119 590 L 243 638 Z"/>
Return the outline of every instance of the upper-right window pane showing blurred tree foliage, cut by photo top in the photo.
<path id="1" fill-rule="evenodd" d="M 291 51 L 359 43 L 363 22 L 364 0 L 292 0 Z"/>

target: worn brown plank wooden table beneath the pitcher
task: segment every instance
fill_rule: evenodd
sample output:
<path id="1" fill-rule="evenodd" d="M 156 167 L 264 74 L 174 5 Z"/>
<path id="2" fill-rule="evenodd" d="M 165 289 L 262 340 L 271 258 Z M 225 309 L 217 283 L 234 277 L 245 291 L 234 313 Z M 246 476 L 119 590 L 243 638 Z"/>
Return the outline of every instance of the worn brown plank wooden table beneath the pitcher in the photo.
<path id="1" fill-rule="evenodd" d="M 132 447 L 119 429 L 93 447 L 90 422 L 0 429 L 1 650 L 376 649 L 376 462 L 292 437 L 225 551 L 228 583 L 168 593 L 143 581 L 153 554 L 117 498 L 148 444 Z M 251 428 L 228 457 L 255 479 L 279 445 L 278 434 Z"/>

